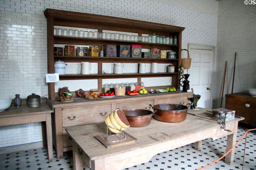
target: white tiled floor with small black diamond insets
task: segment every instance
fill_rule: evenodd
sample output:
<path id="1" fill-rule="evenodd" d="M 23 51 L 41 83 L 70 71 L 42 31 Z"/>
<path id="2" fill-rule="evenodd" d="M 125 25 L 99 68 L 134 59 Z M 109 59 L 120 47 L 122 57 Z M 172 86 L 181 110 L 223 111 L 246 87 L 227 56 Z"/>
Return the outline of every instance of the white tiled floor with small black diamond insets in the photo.
<path id="1" fill-rule="evenodd" d="M 246 127 L 239 125 L 237 140 L 244 134 L 245 129 Z M 215 141 L 205 139 L 201 151 L 194 150 L 193 144 L 189 144 L 159 153 L 149 162 L 125 170 L 196 170 L 221 157 L 226 150 L 226 140 L 227 137 Z M 241 170 L 244 142 L 243 139 L 236 147 L 234 164 L 228 165 L 221 160 L 206 170 Z M 0 170 L 73 170 L 71 151 L 64 153 L 63 159 L 57 160 L 55 157 L 52 162 L 48 162 L 47 150 L 44 148 L 2 154 L 0 160 Z M 247 134 L 244 170 L 256 170 L 256 131 Z"/>

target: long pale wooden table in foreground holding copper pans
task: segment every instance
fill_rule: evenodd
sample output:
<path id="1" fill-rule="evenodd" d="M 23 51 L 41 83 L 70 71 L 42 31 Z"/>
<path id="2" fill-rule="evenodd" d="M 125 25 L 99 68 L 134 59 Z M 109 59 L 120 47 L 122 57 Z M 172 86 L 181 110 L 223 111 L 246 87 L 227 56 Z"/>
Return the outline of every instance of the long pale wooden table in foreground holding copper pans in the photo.
<path id="1" fill-rule="evenodd" d="M 137 138 L 137 142 L 120 147 L 106 149 L 93 136 L 106 134 L 105 123 L 82 125 L 66 128 L 73 139 L 74 169 L 83 170 L 83 162 L 91 170 L 121 170 L 149 161 L 152 156 L 172 150 L 186 144 L 195 143 L 195 149 L 201 148 L 201 140 L 213 140 L 228 136 L 227 148 L 236 142 L 237 126 L 240 120 L 235 118 L 227 122 L 226 129 L 221 130 L 216 121 L 187 115 L 186 120 L 177 123 L 160 122 L 152 119 L 145 127 L 130 127 L 125 132 Z M 234 161 L 235 150 L 225 159 L 227 164 Z"/>

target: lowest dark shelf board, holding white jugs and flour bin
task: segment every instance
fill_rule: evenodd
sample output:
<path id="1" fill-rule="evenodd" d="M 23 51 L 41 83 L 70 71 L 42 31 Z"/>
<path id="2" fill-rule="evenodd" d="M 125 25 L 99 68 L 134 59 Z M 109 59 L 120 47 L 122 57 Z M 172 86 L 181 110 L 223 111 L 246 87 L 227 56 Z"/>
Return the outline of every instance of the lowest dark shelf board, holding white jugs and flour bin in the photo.
<path id="1" fill-rule="evenodd" d="M 134 78 L 134 77 L 170 77 L 178 73 L 123 73 L 123 74 L 65 74 L 59 75 L 60 80 L 75 79 L 118 79 L 118 78 Z"/>

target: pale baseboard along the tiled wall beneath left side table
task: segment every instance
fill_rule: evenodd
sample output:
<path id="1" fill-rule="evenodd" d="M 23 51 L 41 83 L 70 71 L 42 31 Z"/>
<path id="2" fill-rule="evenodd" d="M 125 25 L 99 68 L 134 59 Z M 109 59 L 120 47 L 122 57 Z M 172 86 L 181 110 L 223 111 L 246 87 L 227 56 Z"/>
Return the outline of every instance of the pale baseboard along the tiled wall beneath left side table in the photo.
<path id="1" fill-rule="evenodd" d="M 14 146 L 0 147 L 0 154 L 19 152 L 22 150 L 29 150 L 43 147 L 43 142 L 33 142 L 28 144 L 19 144 Z"/>

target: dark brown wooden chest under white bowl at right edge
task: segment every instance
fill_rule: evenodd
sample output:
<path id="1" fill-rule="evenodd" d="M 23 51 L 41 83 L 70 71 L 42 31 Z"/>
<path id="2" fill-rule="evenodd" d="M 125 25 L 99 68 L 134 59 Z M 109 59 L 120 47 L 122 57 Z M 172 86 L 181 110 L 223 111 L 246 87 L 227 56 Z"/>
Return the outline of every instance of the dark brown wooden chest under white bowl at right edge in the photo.
<path id="1" fill-rule="evenodd" d="M 241 122 L 256 126 L 256 97 L 249 94 L 226 94 L 225 108 L 236 111 L 237 116 L 244 117 Z"/>

